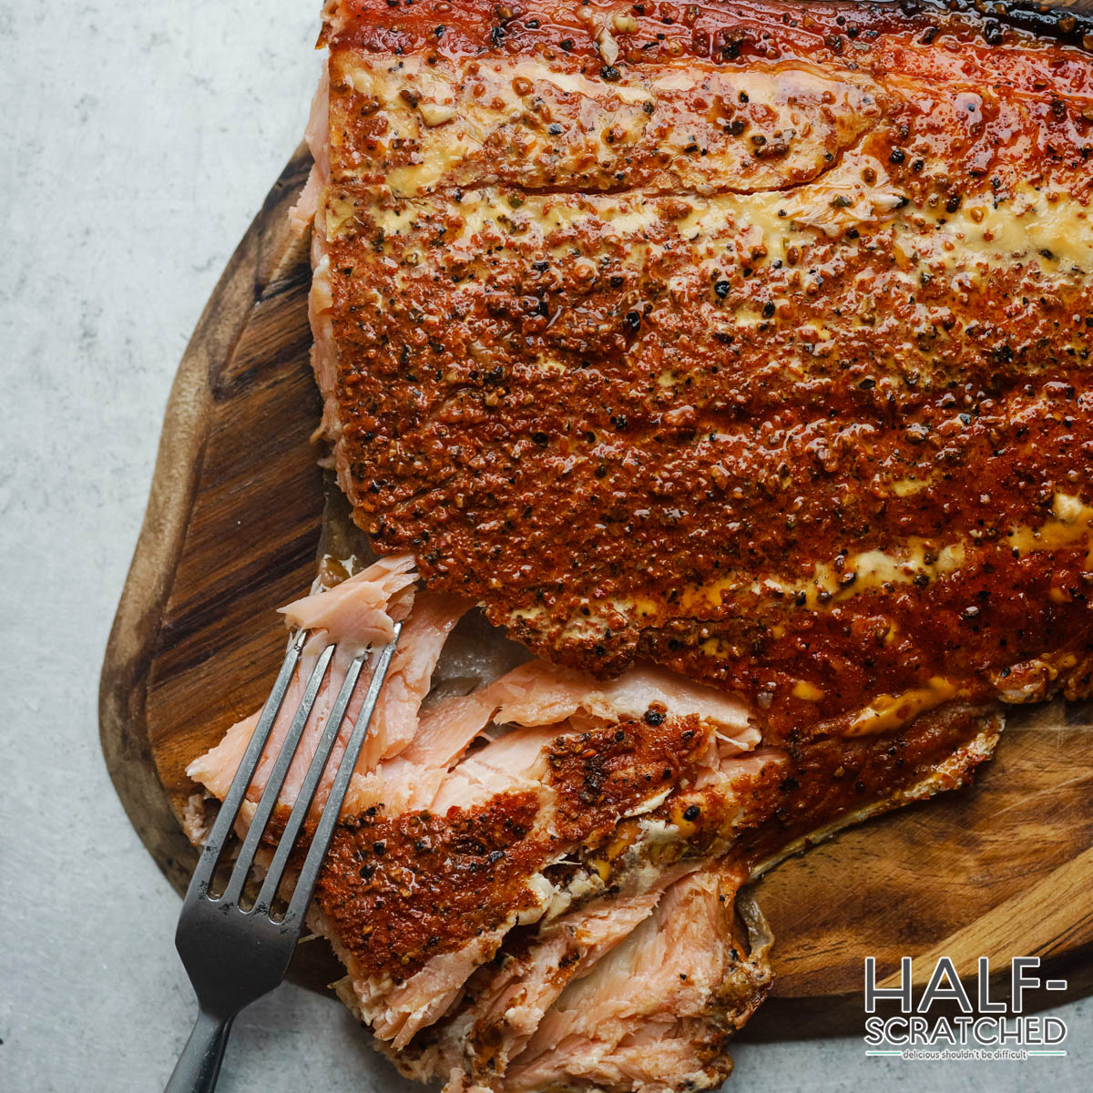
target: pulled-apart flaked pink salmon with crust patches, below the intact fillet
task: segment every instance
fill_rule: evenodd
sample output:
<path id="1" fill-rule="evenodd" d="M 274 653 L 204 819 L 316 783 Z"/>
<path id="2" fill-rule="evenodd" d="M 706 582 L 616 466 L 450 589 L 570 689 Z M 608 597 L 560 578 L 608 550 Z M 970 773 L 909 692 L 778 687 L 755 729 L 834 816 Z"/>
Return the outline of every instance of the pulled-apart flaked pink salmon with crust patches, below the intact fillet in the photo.
<path id="1" fill-rule="evenodd" d="M 736 932 L 744 880 L 795 832 L 962 784 L 997 739 L 968 712 L 868 806 L 821 802 L 797 826 L 772 823 L 791 757 L 763 745 L 738 698 L 662 669 L 603 682 L 530 660 L 423 710 L 469 604 L 416 591 L 411 566 L 383 560 L 284 610 L 289 625 L 314 627 L 285 710 L 318 653 L 340 651 L 281 800 L 295 799 L 345 665 L 401 619 L 312 925 L 345 963 L 339 994 L 399 1066 L 453 1090 L 533 1090 L 560 1073 L 601 1089 L 667 1090 L 681 1073 L 716 1084 L 772 977 L 761 916 L 753 938 Z M 226 792 L 256 721 L 190 764 L 212 796 Z M 611 1006 L 592 1019 L 601 998 Z"/>

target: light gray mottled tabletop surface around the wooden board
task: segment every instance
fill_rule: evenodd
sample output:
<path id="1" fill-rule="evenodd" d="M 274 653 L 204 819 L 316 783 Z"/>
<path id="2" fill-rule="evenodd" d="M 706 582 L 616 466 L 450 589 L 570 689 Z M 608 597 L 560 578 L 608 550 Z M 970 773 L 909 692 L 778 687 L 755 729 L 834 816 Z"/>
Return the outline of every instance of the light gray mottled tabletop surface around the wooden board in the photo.
<path id="1" fill-rule="evenodd" d="M 177 361 L 306 118 L 318 7 L 0 0 L 3 1091 L 157 1090 L 193 1015 L 177 897 L 103 766 L 98 669 Z M 1063 1014 L 1062 1061 L 744 1045 L 729 1089 L 1093 1088 L 1093 1006 Z M 236 1023 L 221 1089 L 392 1076 L 338 1003 L 282 987 Z"/>

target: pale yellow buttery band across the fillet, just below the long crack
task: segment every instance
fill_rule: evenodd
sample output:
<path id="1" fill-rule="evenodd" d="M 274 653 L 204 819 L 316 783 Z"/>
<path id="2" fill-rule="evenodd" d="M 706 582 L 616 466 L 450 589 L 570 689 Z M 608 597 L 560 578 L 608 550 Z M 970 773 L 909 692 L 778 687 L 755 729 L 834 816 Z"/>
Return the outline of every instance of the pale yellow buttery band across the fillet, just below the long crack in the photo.
<path id="1" fill-rule="evenodd" d="M 874 181 L 865 183 L 863 175 Z M 872 238 L 881 254 L 895 257 L 897 269 L 891 275 L 912 294 L 924 273 L 952 278 L 954 291 L 966 293 L 984 284 L 994 270 L 1014 263 L 1035 268 L 1048 284 L 1084 284 L 1093 277 L 1090 210 L 1068 195 L 1041 192 L 1025 184 L 989 212 L 973 204 L 947 213 L 940 204 L 907 204 L 883 165 L 866 152 L 847 154 L 816 181 L 786 192 L 666 198 L 640 189 L 611 196 L 515 195 L 484 187 L 451 204 L 430 198 L 366 199 L 331 190 L 326 212 L 329 243 L 355 234 L 365 221 L 380 233 L 384 254 L 398 262 L 395 277 L 402 289 L 410 286 L 425 252 L 401 240 L 442 223 L 446 250 L 458 255 L 468 274 L 481 281 L 492 273 L 485 258 L 490 251 L 534 250 L 565 263 L 573 261 L 577 234 L 596 240 L 591 249 L 585 242 L 584 257 L 577 259 L 578 267 L 588 267 L 589 281 L 597 273 L 597 251 L 621 245 L 622 267 L 644 280 L 666 254 L 685 247 L 691 261 L 669 282 L 673 306 L 701 302 L 710 284 L 736 266 L 794 265 L 810 240 L 833 239 L 851 230 Z M 825 275 L 824 266 L 814 267 L 814 272 Z M 862 314 L 845 316 L 838 325 L 871 324 L 866 315 L 869 299 L 863 291 Z M 790 303 L 790 296 L 779 297 L 776 313 Z M 732 307 L 710 314 L 709 321 L 733 331 L 766 318 L 754 309 Z M 924 315 L 924 320 L 929 318 Z M 835 345 L 834 332 L 816 325 L 801 329 L 801 341 L 813 356 Z M 786 366 L 792 367 L 792 361 Z M 800 366 L 807 371 L 807 364 Z"/>

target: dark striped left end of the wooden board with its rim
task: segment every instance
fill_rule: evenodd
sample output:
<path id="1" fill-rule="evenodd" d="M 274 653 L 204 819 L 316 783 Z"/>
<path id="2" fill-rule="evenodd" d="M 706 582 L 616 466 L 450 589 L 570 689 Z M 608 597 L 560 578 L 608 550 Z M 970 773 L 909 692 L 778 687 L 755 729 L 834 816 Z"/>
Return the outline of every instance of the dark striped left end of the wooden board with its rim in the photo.
<path id="1" fill-rule="evenodd" d="M 302 146 L 187 346 L 103 665 L 107 766 L 179 890 L 195 860 L 177 822 L 192 788 L 183 767 L 261 704 L 283 643 L 271 609 L 314 569 L 322 498 L 308 445 L 318 412 L 309 272 L 306 240 L 287 222 L 309 169 Z"/>

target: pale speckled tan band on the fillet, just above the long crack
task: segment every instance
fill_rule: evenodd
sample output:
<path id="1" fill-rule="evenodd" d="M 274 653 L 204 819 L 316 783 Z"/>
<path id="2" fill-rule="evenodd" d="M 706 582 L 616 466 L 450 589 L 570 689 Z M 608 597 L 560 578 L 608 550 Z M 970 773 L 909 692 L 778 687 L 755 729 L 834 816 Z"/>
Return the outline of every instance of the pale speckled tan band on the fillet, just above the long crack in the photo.
<path id="1" fill-rule="evenodd" d="M 372 145 L 336 155 L 337 177 L 397 197 L 517 172 L 532 190 L 560 177 L 613 189 L 620 169 L 673 190 L 779 188 L 823 173 L 875 125 L 881 97 L 865 74 L 836 78 L 802 61 L 658 64 L 607 82 L 528 58 L 483 59 L 471 73 L 443 59 L 391 66 L 357 55 L 336 58 L 331 77 L 339 138 L 339 111 L 383 124 Z M 730 131 L 738 115 L 776 151 L 753 156 Z"/>

